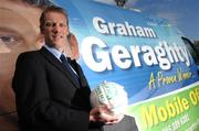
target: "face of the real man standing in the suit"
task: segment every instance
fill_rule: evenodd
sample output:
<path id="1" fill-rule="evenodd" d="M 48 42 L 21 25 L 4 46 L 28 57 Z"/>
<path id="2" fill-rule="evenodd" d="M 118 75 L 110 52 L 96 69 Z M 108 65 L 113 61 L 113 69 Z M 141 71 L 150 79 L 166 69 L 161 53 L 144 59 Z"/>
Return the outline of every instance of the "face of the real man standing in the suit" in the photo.
<path id="1" fill-rule="evenodd" d="M 69 26 L 66 18 L 59 12 L 48 12 L 42 34 L 45 37 L 45 44 L 63 51 L 67 42 Z"/>

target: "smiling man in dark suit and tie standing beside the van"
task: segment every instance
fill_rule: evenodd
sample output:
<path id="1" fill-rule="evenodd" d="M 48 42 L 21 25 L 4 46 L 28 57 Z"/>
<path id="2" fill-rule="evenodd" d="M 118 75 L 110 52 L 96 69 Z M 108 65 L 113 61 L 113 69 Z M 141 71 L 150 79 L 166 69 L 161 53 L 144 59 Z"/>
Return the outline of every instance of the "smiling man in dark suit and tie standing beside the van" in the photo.
<path id="1" fill-rule="evenodd" d="M 117 123 L 119 117 L 111 116 L 107 106 L 91 109 L 91 90 L 80 65 L 65 59 L 70 31 L 64 10 L 46 8 L 40 29 L 44 47 L 18 57 L 12 80 L 21 130 L 98 131 L 101 123 Z"/>

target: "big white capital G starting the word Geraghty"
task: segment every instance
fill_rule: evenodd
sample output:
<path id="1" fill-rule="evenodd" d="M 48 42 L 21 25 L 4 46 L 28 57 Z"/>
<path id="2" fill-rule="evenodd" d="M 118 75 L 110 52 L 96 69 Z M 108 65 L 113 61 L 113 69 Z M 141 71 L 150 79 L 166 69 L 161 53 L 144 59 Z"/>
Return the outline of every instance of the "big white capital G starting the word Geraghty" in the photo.
<path id="1" fill-rule="evenodd" d="M 113 69 L 108 52 L 105 51 L 106 47 L 106 44 L 98 37 L 88 36 L 83 40 L 82 57 L 92 70 L 104 72 Z"/>

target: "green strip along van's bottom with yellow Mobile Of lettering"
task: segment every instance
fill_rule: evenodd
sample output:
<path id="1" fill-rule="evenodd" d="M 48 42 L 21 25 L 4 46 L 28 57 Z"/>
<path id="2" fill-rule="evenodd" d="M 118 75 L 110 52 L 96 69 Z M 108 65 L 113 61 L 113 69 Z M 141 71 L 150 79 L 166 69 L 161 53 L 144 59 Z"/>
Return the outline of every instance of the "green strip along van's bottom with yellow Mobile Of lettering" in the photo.
<path id="1" fill-rule="evenodd" d="M 199 85 L 132 105 L 126 114 L 135 117 L 139 131 L 199 131 Z"/>

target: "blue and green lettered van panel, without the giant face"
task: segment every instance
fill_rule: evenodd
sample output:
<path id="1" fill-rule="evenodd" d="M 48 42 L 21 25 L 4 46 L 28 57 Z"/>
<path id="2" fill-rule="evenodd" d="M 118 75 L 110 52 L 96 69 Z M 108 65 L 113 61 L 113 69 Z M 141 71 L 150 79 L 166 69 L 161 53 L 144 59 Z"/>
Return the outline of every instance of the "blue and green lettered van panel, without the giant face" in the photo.
<path id="1" fill-rule="evenodd" d="M 199 130 L 197 66 L 175 26 L 93 1 L 54 2 L 67 10 L 92 89 L 103 81 L 123 85 L 126 114 L 142 131 Z"/>

